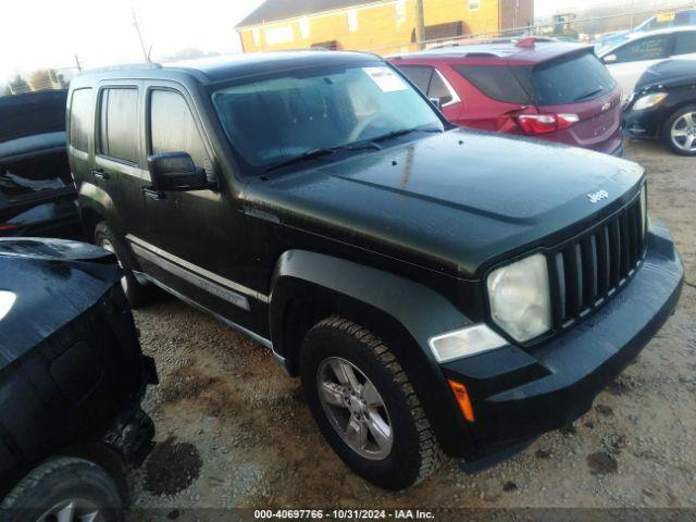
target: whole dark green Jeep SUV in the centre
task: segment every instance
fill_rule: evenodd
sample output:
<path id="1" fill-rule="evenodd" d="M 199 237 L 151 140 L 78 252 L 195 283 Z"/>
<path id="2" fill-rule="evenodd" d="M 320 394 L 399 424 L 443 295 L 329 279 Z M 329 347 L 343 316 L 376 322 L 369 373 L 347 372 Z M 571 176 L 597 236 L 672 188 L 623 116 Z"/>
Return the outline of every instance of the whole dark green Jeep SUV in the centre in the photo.
<path id="1" fill-rule="evenodd" d="M 96 72 L 67 125 L 132 302 L 154 284 L 269 347 L 383 487 L 572 422 L 680 295 L 643 167 L 455 128 L 373 54 Z"/>

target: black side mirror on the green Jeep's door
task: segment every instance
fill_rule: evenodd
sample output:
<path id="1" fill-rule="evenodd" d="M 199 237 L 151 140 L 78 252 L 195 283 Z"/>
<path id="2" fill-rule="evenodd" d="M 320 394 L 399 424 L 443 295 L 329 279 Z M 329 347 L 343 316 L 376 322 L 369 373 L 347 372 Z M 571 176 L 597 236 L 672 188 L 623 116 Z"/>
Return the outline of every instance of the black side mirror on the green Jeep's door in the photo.
<path id="1" fill-rule="evenodd" d="M 153 190 L 167 192 L 210 188 L 206 172 L 196 167 L 188 152 L 148 156 L 148 170 Z"/>

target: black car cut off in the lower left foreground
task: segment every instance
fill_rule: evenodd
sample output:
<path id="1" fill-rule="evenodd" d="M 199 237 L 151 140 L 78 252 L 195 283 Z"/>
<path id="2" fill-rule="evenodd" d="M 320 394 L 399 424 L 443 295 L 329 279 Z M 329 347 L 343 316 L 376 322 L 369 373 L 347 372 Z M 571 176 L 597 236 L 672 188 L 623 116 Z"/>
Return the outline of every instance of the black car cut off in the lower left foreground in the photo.
<path id="1" fill-rule="evenodd" d="M 0 520 L 121 520 L 157 382 L 110 252 L 0 239 Z"/>

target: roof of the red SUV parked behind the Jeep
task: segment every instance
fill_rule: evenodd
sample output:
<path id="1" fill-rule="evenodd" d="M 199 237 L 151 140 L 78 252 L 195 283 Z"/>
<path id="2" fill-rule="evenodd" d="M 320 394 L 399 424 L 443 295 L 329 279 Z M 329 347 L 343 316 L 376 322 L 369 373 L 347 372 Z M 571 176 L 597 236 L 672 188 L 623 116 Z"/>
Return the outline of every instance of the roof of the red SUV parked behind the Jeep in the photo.
<path id="1" fill-rule="evenodd" d="M 518 42 L 519 44 L 519 42 Z M 505 60 L 509 65 L 525 65 L 552 60 L 569 52 L 592 49 L 591 46 L 568 41 L 535 41 L 534 47 L 520 47 L 515 42 L 480 44 L 471 46 L 452 46 L 448 48 L 427 49 L 408 54 L 389 57 L 391 60 Z"/>

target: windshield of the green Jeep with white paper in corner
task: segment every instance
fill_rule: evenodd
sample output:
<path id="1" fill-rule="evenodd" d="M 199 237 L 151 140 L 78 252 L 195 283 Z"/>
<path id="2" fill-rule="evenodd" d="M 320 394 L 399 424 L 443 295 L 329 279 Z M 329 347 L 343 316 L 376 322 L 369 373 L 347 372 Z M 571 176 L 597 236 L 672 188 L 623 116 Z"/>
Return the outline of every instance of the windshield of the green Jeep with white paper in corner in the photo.
<path id="1" fill-rule="evenodd" d="M 217 90 L 213 104 L 233 148 L 259 171 L 444 130 L 401 76 L 368 65 L 284 71 Z"/>

